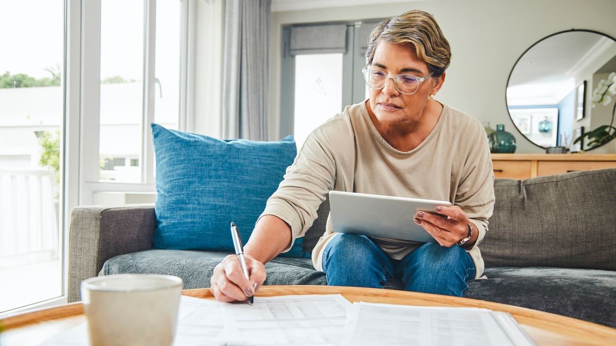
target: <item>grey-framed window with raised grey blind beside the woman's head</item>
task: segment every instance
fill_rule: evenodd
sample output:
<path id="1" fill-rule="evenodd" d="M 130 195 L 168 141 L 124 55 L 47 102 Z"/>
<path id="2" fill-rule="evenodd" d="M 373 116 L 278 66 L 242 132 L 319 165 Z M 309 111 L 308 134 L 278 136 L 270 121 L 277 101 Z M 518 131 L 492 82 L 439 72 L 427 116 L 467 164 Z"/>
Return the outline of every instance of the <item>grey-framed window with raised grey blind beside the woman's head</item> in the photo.
<path id="1" fill-rule="evenodd" d="M 283 27 L 280 136 L 312 130 L 368 95 L 362 67 L 377 20 Z"/>

